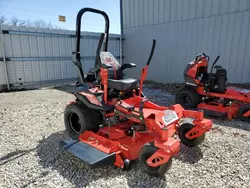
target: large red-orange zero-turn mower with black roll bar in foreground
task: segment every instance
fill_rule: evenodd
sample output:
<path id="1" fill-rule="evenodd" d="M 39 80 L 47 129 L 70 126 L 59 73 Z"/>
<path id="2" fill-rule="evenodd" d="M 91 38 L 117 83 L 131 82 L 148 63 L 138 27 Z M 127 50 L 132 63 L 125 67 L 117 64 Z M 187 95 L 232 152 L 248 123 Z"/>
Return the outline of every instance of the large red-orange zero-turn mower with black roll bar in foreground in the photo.
<path id="1" fill-rule="evenodd" d="M 80 62 L 80 28 L 81 17 L 86 12 L 101 14 L 106 24 L 97 46 L 95 67 L 84 74 Z M 155 40 L 137 80 L 125 77 L 123 72 L 135 64 L 120 65 L 107 52 L 108 39 L 107 14 L 92 8 L 81 9 L 76 20 L 76 51 L 73 52 L 80 79 L 74 92 L 76 99 L 64 112 L 66 132 L 71 139 L 61 144 L 92 167 L 113 164 L 128 169 L 131 161 L 139 159 L 144 172 L 163 176 L 180 150 L 180 141 L 175 138 L 177 132 L 183 144 L 196 146 L 204 140 L 212 122 L 204 119 L 201 111 L 185 110 L 179 104 L 159 106 L 144 96 L 142 85 Z M 193 123 L 180 125 L 179 120 L 185 117 L 193 118 Z"/>

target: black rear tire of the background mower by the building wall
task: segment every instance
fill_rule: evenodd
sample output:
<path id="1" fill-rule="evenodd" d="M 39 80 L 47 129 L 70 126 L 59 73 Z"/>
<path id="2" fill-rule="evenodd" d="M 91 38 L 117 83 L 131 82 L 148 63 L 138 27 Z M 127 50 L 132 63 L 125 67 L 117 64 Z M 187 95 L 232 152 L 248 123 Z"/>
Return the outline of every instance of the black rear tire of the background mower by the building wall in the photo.
<path id="1" fill-rule="evenodd" d="M 191 88 L 183 88 L 175 95 L 175 103 L 184 108 L 196 108 L 200 102 L 201 96 Z"/>

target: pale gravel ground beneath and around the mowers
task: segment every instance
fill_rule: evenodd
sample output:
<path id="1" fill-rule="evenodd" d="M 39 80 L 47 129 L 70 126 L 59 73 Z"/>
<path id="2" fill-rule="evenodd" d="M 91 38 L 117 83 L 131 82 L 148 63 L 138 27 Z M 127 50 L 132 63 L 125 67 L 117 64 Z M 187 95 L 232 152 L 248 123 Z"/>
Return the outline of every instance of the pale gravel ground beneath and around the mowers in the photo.
<path id="1" fill-rule="evenodd" d="M 0 187 L 250 187 L 250 125 L 213 119 L 199 147 L 181 146 L 164 178 L 135 163 L 130 171 L 90 169 L 59 147 L 66 138 L 65 104 L 73 98 L 57 89 L 0 94 Z M 148 98 L 170 105 L 174 96 L 145 87 Z"/>

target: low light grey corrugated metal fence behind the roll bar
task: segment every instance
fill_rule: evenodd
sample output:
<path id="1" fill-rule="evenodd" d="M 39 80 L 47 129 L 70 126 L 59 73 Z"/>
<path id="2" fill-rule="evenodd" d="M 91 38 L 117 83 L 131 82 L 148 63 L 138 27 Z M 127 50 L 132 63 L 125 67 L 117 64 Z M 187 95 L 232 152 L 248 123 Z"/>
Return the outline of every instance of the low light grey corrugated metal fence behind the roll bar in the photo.
<path id="1" fill-rule="evenodd" d="M 48 34 L 70 34 L 74 31 L 35 29 L 25 27 L 2 26 L 3 30 L 38 32 Z M 91 36 L 100 36 L 100 33 L 83 33 L 85 38 L 81 42 L 81 56 L 95 57 L 98 38 Z M 0 33 L 1 37 L 1 33 Z M 108 50 L 114 56 L 120 56 L 120 41 L 115 39 L 120 35 L 111 34 Z M 78 73 L 73 65 L 71 56 L 75 50 L 75 38 L 61 36 L 38 36 L 38 35 L 20 35 L 3 34 L 5 56 L 9 58 L 38 58 L 34 61 L 7 61 L 7 72 L 9 82 L 12 85 L 35 85 L 35 87 L 53 85 L 55 82 L 62 83 L 67 80 L 77 78 Z M 1 38 L 0 38 L 0 41 Z M 0 57 L 2 54 L 2 45 L 0 44 Z M 64 58 L 63 60 L 39 60 L 39 58 Z M 68 57 L 68 59 L 65 59 Z M 84 71 L 89 71 L 94 65 L 94 58 L 82 60 Z M 53 82 L 53 83 L 52 83 Z M 42 84 L 39 84 L 42 83 Z M 5 85 L 4 63 L 0 61 L 0 86 Z"/>

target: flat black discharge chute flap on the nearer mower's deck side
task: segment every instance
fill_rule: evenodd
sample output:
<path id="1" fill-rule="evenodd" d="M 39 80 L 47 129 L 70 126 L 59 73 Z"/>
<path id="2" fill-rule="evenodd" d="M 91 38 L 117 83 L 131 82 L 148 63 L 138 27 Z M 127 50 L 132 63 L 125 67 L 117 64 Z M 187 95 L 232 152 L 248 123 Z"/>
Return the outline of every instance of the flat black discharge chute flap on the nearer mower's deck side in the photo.
<path id="1" fill-rule="evenodd" d="M 78 140 L 64 140 L 61 145 L 68 152 L 88 163 L 91 167 L 111 165 L 115 162 L 116 154 L 106 154 L 84 142 Z"/>

